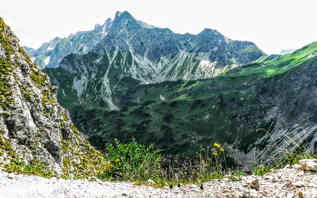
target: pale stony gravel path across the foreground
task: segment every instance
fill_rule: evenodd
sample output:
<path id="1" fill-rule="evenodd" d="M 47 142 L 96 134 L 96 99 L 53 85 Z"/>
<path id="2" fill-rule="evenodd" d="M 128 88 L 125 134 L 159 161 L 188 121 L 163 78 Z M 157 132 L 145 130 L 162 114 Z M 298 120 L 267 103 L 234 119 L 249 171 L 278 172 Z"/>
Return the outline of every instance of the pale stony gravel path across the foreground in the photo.
<path id="1" fill-rule="evenodd" d="M 251 188 L 257 179 L 260 188 Z M 211 180 L 204 183 L 204 190 L 197 185 L 156 189 L 132 182 L 57 180 L 0 171 L 0 198 L 317 198 L 316 189 L 316 172 L 298 166 L 240 181 Z"/>

